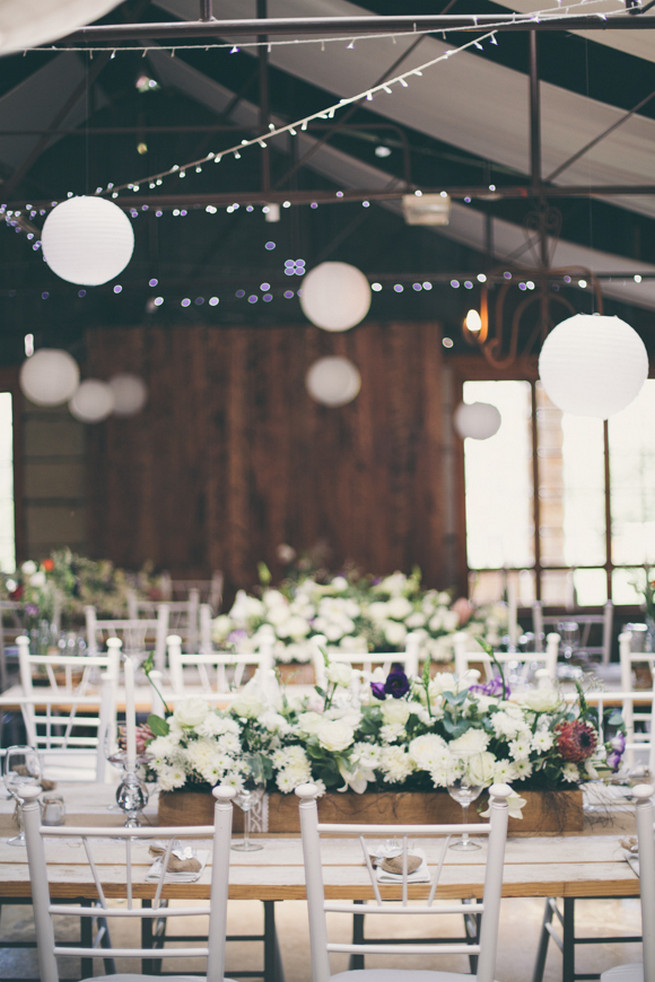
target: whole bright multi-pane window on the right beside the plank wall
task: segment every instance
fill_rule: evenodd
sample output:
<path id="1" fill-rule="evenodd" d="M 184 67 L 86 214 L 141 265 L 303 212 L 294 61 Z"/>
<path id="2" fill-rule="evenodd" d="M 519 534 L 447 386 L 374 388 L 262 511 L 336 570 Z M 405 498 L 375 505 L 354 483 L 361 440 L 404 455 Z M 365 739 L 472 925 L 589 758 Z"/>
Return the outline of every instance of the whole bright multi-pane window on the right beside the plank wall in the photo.
<path id="1" fill-rule="evenodd" d="M 501 412 L 498 433 L 464 441 L 471 595 L 635 604 L 655 567 L 655 380 L 607 424 L 561 413 L 539 382 L 469 381 L 465 402 Z"/>

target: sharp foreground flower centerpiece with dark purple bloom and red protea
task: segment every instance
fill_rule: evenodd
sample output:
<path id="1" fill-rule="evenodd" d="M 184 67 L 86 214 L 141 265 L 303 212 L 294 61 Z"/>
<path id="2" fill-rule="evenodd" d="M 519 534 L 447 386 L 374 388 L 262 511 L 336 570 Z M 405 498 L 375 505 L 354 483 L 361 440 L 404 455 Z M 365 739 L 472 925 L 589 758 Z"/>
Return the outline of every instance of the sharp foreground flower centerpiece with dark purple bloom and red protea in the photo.
<path id="1" fill-rule="evenodd" d="M 280 691 L 267 700 L 255 679 L 227 708 L 194 699 L 151 718 L 161 789 L 238 786 L 241 760 L 253 753 L 268 790 L 284 795 L 306 781 L 358 795 L 445 789 L 464 750 L 478 756 L 484 785 L 507 782 L 519 794 L 576 788 L 619 764 L 580 688 L 575 702 L 555 686 L 514 696 L 504 680 L 479 686 L 473 673 L 432 675 L 429 662 L 411 679 L 398 667 L 373 679 L 353 679 L 339 662 L 326 671 L 327 688 L 315 696 Z"/>

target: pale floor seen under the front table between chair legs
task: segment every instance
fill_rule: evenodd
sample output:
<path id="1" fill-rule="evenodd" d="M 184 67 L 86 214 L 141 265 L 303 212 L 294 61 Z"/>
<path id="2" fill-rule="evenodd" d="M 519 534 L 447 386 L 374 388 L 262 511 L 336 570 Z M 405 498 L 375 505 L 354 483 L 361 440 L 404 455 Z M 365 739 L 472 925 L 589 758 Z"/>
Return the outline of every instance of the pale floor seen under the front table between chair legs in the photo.
<path id="1" fill-rule="evenodd" d="M 498 982 L 531 982 L 535 953 L 541 927 L 544 904 L 541 900 L 504 900 L 501 908 L 501 929 L 499 957 L 496 971 Z M 235 901 L 230 905 L 229 933 L 252 933 L 261 930 L 261 905 L 257 901 Z M 186 923 L 186 922 L 185 922 Z M 280 941 L 285 982 L 311 982 L 309 963 L 309 941 L 305 904 L 301 901 L 285 902 L 277 905 L 276 923 Z M 453 924 L 453 931 L 459 931 L 461 920 Z M 601 936 L 604 934 L 640 933 L 639 903 L 636 900 L 578 901 L 576 903 L 576 929 L 579 934 Z M 193 929 L 190 928 L 190 933 Z M 343 931 L 347 936 L 348 923 L 344 920 Z M 31 907 L 6 907 L 0 915 L 0 937 L 33 938 Z M 583 945 L 576 957 L 576 972 L 600 973 L 612 965 L 638 961 L 641 957 L 637 944 L 599 944 Z M 345 958 L 345 956 L 344 956 Z M 379 964 L 379 962 L 377 963 Z M 394 967 L 386 963 L 388 967 Z M 406 958 L 396 962 L 408 967 Z M 226 974 L 238 971 L 258 971 L 262 965 L 262 945 L 259 943 L 234 942 L 228 945 Z M 367 967 L 374 967 L 374 958 L 367 959 Z M 544 982 L 571 982 L 562 979 L 561 955 L 551 941 Z M 467 961 L 461 956 L 453 956 L 448 964 L 443 961 L 437 966 L 420 964 L 412 959 L 412 967 L 434 967 L 451 971 L 468 971 Z M 78 963 L 71 961 L 64 973 L 68 978 L 79 978 Z M 345 968 L 345 962 L 335 961 L 334 970 Z M 127 966 L 121 966 L 124 970 Z M 136 969 L 136 966 L 134 966 Z M 200 971 L 202 966 L 184 962 L 179 965 L 169 963 L 167 971 Z M 98 961 L 96 973 L 102 974 L 102 963 Z M 0 943 L 0 979 L 34 979 L 38 977 L 35 952 L 21 949 L 2 948 Z"/>

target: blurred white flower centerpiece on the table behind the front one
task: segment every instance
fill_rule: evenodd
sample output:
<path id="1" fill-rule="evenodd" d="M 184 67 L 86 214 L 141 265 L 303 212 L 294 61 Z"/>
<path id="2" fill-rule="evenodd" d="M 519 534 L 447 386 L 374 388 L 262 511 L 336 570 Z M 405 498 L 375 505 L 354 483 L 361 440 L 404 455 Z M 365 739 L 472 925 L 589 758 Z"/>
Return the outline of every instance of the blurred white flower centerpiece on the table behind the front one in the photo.
<path id="1" fill-rule="evenodd" d="M 220 647 L 254 650 L 273 638 L 280 662 L 311 659 L 309 639 L 321 635 L 349 651 L 401 651 L 411 633 L 421 655 L 433 662 L 452 660 L 452 637 L 460 630 L 498 644 L 507 630 L 503 604 L 477 609 L 450 591 L 425 589 L 421 572 L 376 577 L 347 569 L 336 575 L 296 572 L 279 586 L 260 564 L 258 595 L 239 590 L 234 604 L 213 621 L 212 640 Z"/>

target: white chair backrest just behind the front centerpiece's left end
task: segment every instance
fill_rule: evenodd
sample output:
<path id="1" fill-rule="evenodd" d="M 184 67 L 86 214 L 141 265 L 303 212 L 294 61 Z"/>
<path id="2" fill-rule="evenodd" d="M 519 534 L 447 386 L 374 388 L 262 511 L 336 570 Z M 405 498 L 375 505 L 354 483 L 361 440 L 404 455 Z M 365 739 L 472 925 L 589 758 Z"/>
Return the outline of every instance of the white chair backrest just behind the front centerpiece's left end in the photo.
<path id="1" fill-rule="evenodd" d="M 263 643 L 257 651 L 235 653 L 182 651 L 182 639 L 167 638 L 170 684 L 173 698 L 201 694 L 212 700 L 229 701 L 246 682 L 257 677 L 263 692 L 272 687 L 273 645 Z"/>

